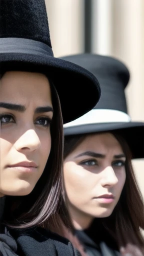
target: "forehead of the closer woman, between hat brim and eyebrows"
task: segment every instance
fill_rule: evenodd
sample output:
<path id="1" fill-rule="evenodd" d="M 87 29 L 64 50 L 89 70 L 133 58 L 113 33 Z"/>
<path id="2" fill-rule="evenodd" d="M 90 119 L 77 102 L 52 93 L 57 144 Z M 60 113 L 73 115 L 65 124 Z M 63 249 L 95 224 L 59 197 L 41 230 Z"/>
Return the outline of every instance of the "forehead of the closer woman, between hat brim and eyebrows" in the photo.
<path id="1" fill-rule="evenodd" d="M 27 101 L 51 101 L 50 85 L 47 77 L 41 73 L 8 71 L 0 82 L 0 101 L 12 100 L 24 104 Z M 15 103 L 16 103 L 15 102 Z M 42 103 L 41 102 L 41 103 Z M 40 104 L 41 105 L 41 104 Z"/>

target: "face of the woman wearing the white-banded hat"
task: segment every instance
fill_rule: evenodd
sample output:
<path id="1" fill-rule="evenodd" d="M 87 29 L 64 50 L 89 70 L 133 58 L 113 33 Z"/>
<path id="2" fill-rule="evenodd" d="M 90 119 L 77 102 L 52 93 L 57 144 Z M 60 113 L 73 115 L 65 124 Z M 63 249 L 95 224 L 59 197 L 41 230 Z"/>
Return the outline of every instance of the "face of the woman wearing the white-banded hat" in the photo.
<path id="1" fill-rule="evenodd" d="M 85 135 L 64 159 L 68 208 L 77 222 L 109 216 L 124 182 L 125 155 L 111 133 Z"/>

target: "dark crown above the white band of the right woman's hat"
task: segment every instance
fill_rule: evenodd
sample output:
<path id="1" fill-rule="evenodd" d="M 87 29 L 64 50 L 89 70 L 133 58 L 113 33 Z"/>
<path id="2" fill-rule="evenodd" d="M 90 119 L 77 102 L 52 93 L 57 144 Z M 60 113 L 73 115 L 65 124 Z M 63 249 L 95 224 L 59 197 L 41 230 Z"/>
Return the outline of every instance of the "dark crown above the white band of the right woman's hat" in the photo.
<path id="1" fill-rule="evenodd" d="M 91 53 L 61 58 L 84 67 L 98 79 L 101 96 L 94 108 L 114 109 L 127 113 L 124 89 L 129 81 L 129 71 L 121 61 L 110 56 Z"/>

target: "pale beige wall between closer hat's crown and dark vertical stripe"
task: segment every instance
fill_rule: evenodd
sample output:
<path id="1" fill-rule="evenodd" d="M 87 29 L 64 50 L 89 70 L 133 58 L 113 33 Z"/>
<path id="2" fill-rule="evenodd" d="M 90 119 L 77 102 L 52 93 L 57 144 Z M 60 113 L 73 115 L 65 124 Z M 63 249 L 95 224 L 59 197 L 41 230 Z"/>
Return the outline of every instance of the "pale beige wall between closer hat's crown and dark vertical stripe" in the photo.
<path id="1" fill-rule="evenodd" d="M 83 0 L 45 0 L 56 57 L 83 51 Z"/>

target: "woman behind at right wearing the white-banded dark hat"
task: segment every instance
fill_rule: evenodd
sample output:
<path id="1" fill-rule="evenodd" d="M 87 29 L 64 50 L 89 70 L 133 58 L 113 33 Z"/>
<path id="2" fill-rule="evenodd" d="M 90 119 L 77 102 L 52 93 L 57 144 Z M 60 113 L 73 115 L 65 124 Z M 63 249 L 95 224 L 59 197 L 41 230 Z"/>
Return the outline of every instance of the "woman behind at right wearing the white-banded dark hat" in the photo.
<path id="1" fill-rule="evenodd" d="M 143 201 L 131 158 L 144 157 L 144 123 L 127 114 L 127 68 L 94 54 L 62 57 L 98 77 L 98 104 L 64 124 L 65 200 L 75 231 L 64 230 L 82 256 L 144 255 Z"/>

